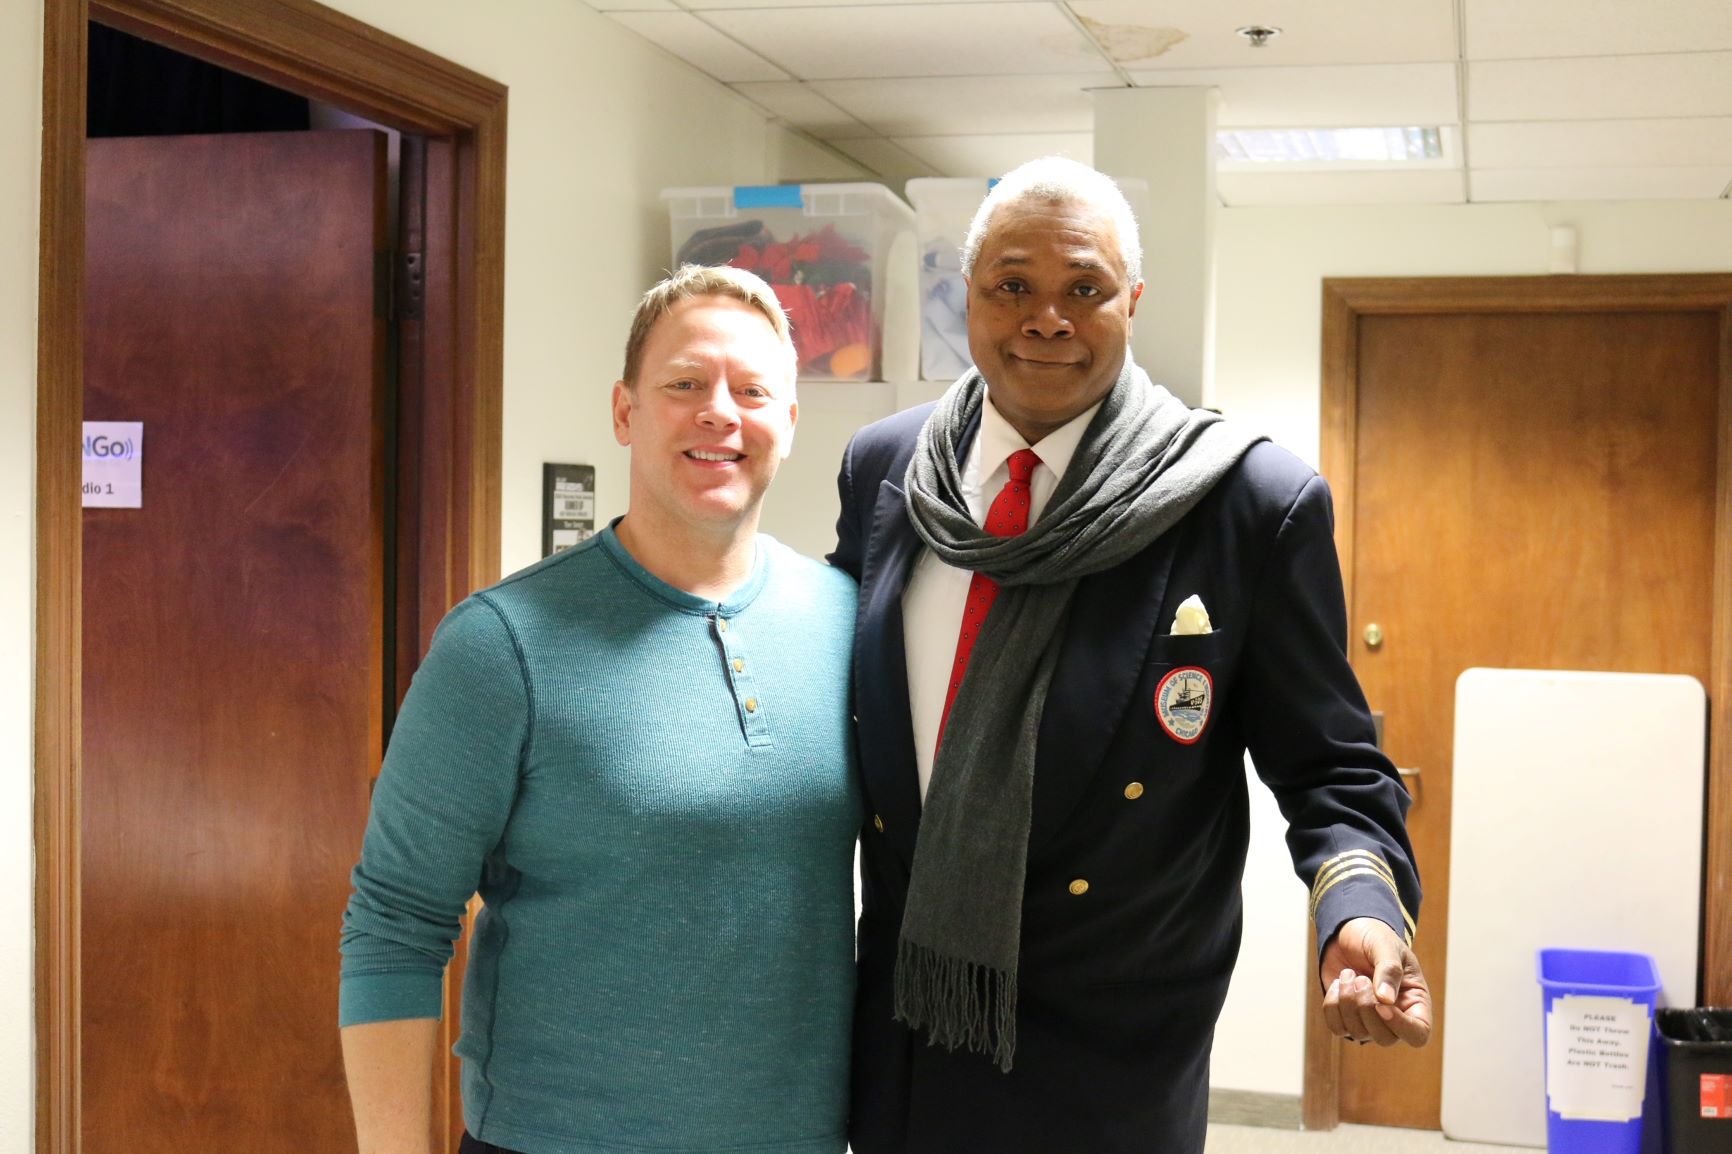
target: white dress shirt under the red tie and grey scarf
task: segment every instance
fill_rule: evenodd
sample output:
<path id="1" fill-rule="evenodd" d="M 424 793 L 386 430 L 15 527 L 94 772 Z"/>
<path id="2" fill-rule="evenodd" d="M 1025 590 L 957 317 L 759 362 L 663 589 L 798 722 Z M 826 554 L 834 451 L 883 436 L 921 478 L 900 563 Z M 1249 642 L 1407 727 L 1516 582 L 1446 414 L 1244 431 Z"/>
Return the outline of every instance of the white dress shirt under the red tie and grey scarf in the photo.
<path id="1" fill-rule="evenodd" d="M 1029 525 L 1041 520 L 1046 501 L 1058 487 L 1058 478 L 1070 466 L 1070 457 L 1082 440 L 1088 423 L 1095 419 L 1095 404 L 1067 425 L 1053 430 L 1031 445 L 992 407 L 987 393 L 980 405 L 980 433 L 963 459 L 963 499 L 975 525 L 986 523 L 987 509 L 1010 480 L 1010 454 L 1034 449 L 1041 463 L 1029 478 Z M 951 688 L 951 667 L 956 664 L 956 634 L 963 627 L 963 608 L 968 605 L 968 584 L 973 572 L 946 565 L 932 549 L 921 549 L 902 591 L 902 646 L 908 650 L 908 709 L 914 719 L 914 762 L 920 768 L 920 799 L 927 799 L 932 781 L 932 759 L 939 752 L 939 724 L 944 721 L 944 697 Z"/>

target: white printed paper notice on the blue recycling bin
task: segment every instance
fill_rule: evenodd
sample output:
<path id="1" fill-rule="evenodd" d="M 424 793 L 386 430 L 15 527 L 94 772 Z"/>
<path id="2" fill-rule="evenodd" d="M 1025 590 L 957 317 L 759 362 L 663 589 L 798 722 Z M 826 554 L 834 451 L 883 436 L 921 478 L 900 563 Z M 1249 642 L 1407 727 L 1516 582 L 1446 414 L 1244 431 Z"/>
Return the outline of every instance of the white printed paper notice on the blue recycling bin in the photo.
<path id="1" fill-rule="evenodd" d="M 1632 1121 L 1647 1090 L 1649 1007 L 1566 995 L 1545 1015 L 1545 1095 L 1569 1121 Z"/>

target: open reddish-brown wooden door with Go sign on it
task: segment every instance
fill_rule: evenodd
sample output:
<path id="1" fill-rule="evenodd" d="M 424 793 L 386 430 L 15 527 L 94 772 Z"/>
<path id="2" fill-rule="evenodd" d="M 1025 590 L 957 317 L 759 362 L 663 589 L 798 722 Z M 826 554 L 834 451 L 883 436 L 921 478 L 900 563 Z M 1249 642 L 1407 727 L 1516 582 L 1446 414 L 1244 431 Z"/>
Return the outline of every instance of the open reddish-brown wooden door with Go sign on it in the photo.
<path id="1" fill-rule="evenodd" d="M 92 140 L 83 1151 L 353 1151 L 336 936 L 379 759 L 383 137 Z"/>

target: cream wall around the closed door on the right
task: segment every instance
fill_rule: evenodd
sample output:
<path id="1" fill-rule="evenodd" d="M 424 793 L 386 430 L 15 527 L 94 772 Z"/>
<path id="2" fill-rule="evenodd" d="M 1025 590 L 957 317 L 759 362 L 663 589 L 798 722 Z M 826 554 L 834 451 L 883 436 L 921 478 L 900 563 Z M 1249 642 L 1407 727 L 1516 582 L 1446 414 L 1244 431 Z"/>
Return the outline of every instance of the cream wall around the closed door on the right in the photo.
<path id="1" fill-rule="evenodd" d="M 1727 201 L 1223 210 L 1212 404 L 1316 464 L 1322 279 L 1538 276 L 1552 225 L 1576 227 L 1585 274 L 1732 270 Z M 1252 781 L 1252 797 L 1245 944 L 1216 1036 L 1214 1085 L 1299 1093 L 1306 891 L 1268 792 Z M 1424 927 L 1422 913 L 1422 962 Z"/>

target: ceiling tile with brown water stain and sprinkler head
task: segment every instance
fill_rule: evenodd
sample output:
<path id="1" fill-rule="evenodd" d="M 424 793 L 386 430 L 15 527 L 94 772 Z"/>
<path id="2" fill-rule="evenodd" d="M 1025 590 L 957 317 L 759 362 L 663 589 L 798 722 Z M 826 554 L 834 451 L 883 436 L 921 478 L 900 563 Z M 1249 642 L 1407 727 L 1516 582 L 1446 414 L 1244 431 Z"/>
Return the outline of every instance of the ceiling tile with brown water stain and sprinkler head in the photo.
<path id="1" fill-rule="evenodd" d="M 1070 0 L 1095 40 L 1131 69 L 1453 61 L 1453 0 Z M 1396 17 L 1394 12 L 1399 12 Z M 1254 49 L 1237 29 L 1282 33 Z"/>

